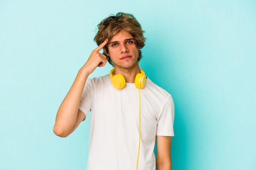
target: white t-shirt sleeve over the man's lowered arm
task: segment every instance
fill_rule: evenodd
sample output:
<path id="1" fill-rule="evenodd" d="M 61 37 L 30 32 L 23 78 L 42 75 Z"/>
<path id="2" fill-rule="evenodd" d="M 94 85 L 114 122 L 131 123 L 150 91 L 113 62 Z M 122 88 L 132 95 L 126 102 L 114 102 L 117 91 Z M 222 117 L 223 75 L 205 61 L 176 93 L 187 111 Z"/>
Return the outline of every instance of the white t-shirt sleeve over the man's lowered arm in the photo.
<path id="1" fill-rule="evenodd" d="M 174 103 L 170 97 L 166 101 L 157 123 L 157 136 L 174 136 Z"/>

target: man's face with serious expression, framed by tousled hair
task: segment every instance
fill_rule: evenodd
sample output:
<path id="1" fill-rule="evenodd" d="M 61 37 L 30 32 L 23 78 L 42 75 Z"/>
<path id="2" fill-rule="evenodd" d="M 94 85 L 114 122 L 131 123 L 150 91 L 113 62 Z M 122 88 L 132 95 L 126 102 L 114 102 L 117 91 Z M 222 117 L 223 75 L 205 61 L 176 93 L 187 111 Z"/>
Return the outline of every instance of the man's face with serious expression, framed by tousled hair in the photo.
<path id="1" fill-rule="evenodd" d="M 108 55 L 116 69 L 130 69 L 138 66 L 139 49 L 135 40 L 127 31 L 120 31 L 108 44 Z"/>

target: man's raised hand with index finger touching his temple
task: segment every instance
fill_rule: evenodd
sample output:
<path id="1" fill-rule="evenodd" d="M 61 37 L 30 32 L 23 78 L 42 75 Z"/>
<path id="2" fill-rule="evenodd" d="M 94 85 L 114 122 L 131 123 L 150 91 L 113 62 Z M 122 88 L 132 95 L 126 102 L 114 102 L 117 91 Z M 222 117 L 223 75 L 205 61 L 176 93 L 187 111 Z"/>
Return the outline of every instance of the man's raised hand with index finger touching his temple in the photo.
<path id="1" fill-rule="evenodd" d="M 88 58 L 82 69 L 86 70 L 89 74 L 91 74 L 98 66 L 103 67 L 106 65 L 106 55 L 101 54 L 100 51 L 107 44 L 107 42 L 108 39 L 106 39 L 96 49 L 92 51 L 90 57 Z"/>

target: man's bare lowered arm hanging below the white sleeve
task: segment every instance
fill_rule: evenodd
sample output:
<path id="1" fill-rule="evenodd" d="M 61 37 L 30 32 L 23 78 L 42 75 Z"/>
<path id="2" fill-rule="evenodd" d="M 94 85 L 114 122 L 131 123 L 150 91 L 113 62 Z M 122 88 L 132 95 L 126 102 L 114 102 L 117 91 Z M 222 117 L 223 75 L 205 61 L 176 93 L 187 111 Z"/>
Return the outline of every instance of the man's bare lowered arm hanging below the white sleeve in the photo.
<path id="1" fill-rule="evenodd" d="M 157 170 L 171 170 L 171 136 L 157 136 Z"/>

